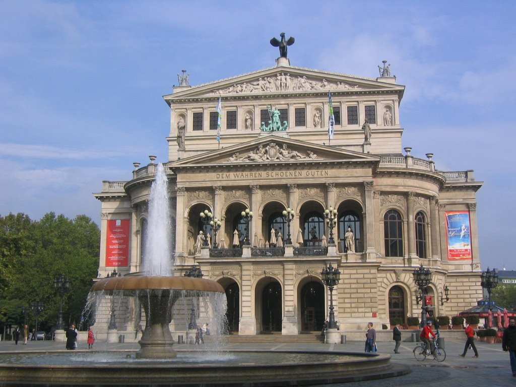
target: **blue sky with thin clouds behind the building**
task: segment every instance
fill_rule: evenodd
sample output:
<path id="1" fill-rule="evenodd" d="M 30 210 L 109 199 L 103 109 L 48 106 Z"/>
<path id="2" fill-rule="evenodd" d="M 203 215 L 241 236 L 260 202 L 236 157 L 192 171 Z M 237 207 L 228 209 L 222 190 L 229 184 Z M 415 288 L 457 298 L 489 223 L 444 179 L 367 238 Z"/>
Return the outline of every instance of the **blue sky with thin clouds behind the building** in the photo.
<path id="1" fill-rule="evenodd" d="M 293 66 L 376 77 L 391 63 L 403 146 L 475 170 L 482 268 L 516 269 L 514 15 L 514 1 L 0 0 L 0 214 L 99 223 L 102 180 L 167 160 L 177 74 L 271 67 L 284 31 Z"/>

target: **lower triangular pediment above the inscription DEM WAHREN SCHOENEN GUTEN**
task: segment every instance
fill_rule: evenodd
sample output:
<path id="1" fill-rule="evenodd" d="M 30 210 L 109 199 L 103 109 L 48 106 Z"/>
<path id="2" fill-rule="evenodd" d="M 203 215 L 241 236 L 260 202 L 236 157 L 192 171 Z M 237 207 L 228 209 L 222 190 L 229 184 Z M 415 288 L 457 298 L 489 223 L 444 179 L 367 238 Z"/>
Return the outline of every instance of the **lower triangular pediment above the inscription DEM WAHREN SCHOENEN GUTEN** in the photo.
<path id="1" fill-rule="evenodd" d="M 370 163 L 378 160 L 378 156 L 370 154 L 328 146 L 315 146 L 313 143 L 271 134 L 224 149 L 184 158 L 169 163 L 168 167 L 174 170 L 201 166 Z"/>

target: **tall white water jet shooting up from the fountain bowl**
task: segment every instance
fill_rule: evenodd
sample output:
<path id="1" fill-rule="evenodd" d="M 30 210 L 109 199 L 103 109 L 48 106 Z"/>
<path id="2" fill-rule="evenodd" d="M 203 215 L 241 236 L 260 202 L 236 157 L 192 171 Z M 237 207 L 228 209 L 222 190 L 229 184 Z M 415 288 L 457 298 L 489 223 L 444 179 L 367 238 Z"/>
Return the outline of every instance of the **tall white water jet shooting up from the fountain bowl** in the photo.
<path id="1" fill-rule="evenodd" d="M 145 261 L 143 262 L 143 270 L 149 276 L 173 275 L 170 254 L 170 236 L 173 229 L 170 219 L 167 175 L 163 164 L 159 163 L 156 169 L 156 178 L 151 186 L 149 227 L 144 251 Z"/>

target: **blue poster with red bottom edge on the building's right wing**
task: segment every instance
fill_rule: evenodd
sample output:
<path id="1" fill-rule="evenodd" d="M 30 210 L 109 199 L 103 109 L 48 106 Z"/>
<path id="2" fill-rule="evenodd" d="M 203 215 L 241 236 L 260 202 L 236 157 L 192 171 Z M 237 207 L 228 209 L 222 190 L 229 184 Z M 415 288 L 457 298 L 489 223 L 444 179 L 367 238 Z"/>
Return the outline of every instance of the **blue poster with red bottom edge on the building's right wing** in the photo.
<path id="1" fill-rule="evenodd" d="M 446 211 L 448 260 L 471 259 L 471 227 L 469 211 Z"/>

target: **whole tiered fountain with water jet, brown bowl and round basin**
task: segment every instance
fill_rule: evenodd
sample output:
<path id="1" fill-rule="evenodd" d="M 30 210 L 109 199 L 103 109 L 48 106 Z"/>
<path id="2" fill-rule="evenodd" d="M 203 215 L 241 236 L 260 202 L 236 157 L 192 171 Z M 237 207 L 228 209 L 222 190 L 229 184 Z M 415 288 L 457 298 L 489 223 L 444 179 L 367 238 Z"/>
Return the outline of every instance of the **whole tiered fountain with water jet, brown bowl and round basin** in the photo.
<path id="1" fill-rule="evenodd" d="M 151 187 L 149 240 L 143 270 L 96 282 L 90 305 L 133 297 L 142 305 L 146 325 L 140 348 L 104 351 L 46 351 L 0 353 L 2 386 L 30 384 L 80 385 L 298 385 L 328 384 L 402 375 L 390 356 L 343 351 L 260 351 L 173 349 L 170 322 L 178 301 L 208 297 L 218 305 L 208 312 L 212 334 L 223 333 L 225 293 L 215 281 L 174 276 L 168 243 L 168 187 L 159 164 Z M 201 302 L 200 302 L 201 303 Z M 113 310 L 113 309 L 112 309 Z M 218 314 L 216 312 L 218 310 Z M 214 312 L 215 311 L 215 312 Z M 113 317 L 111 315 L 111 317 Z M 174 317 L 175 319 L 175 317 Z M 98 323 L 96 323 L 98 324 Z M 185 348 L 186 347 L 186 348 Z"/>

